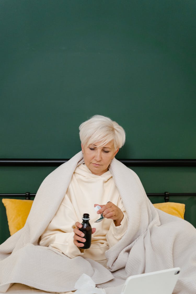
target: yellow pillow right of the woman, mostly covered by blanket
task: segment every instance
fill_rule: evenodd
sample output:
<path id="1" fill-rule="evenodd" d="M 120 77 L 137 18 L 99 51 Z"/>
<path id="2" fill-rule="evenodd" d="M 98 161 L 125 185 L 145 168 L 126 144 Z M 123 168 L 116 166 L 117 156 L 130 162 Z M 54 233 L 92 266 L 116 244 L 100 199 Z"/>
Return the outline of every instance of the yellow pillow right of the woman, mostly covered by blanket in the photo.
<path id="1" fill-rule="evenodd" d="M 155 206 L 155 208 L 158 208 L 162 211 L 172 214 L 172 216 L 178 216 L 179 218 L 184 219 L 185 204 L 183 203 L 165 202 L 165 203 L 155 203 L 153 205 Z"/>

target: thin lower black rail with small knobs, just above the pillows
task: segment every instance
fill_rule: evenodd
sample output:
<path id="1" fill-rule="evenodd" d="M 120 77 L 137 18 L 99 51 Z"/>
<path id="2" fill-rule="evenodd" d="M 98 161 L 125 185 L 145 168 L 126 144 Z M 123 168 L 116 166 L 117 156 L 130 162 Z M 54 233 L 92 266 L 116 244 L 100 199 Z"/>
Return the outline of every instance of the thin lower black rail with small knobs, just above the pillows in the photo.
<path id="1" fill-rule="evenodd" d="M 148 197 L 149 196 L 164 196 L 165 202 L 169 201 L 170 196 L 196 196 L 196 193 L 169 193 L 169 192 L 164 192 L 164 193 L 147 193 L 146 194 Z M 1 193 L 0 197 L 25 197 L 26 200 L 31 200 L 31 197 L 35 197 L 35 193 Z"/>

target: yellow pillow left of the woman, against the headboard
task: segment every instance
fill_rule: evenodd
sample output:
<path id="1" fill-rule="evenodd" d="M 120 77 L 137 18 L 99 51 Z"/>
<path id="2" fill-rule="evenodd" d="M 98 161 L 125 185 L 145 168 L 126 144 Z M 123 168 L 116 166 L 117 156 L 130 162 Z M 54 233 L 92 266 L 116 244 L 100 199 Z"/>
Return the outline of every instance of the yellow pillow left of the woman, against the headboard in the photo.
<path id="1" fill-rule="evenodd" d="M 6 208 L 10 235 L 13 235 L 24 227 L 33 200 L 2 199 L 2 202 Z"/>

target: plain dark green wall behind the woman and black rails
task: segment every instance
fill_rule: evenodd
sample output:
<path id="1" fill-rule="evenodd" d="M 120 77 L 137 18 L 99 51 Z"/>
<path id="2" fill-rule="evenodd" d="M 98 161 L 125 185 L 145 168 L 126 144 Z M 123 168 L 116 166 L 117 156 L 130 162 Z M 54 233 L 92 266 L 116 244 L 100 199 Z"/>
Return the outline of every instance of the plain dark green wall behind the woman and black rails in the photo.
<path id="1" fill-rule="evenodd" d="M 117 158 L 196 158 L 195 1 L 0 1 L 0 158 L 70 158 L 94 114 Z M 0 193 L 53 168 L 1 167 Z M 195 192 L 195 168 L 137 168 L 147 192 Z"/>

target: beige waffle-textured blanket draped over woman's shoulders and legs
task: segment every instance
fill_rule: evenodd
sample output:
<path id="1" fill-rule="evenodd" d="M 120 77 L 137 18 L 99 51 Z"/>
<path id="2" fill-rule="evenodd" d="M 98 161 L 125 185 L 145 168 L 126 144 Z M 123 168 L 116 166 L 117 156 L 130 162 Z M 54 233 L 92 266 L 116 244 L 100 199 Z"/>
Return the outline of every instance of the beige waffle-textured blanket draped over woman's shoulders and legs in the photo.
<path id="1" fill-rule="evenodd" d="M 49 174 L 38 189 L 24 228 L 0 245 L 0 292 L 21 283 L 48 292 L 75 290 L 82 273 L 107 294 L 121 292 L 130 275 L 180 267 L 173 293 L 196 293 L 196 229 L 152 205 L 138 176 L 115 158 L 110 171 L 128 214 L 123 238 L 106 252 L 109 269 L 83 257 L 70 259 L 38 245 L 55 215 L 82 152 Z"/>

